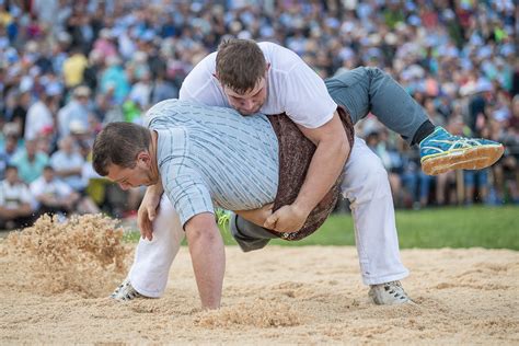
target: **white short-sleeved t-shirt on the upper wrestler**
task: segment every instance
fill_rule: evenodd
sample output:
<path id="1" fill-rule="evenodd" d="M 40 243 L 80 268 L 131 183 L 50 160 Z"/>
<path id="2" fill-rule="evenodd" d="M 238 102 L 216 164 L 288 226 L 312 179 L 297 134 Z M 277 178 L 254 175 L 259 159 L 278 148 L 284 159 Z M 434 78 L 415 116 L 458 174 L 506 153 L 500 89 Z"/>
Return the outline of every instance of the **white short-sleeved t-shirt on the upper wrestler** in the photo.
<path id="1" fill-rule="evenodd" d="M 324 81 L 293 51 L 269 42 L 258 43 L 270 64 L 267 77 L 267 100 L 260 113 L 286 113 L 296 124 L 320 127 L 332 119 L 337 104 L 330 96 Z M 216 56 L 205 57 L 184 80 L 180 100 L 211 106 L 230 107 L 216 73 Z"/>

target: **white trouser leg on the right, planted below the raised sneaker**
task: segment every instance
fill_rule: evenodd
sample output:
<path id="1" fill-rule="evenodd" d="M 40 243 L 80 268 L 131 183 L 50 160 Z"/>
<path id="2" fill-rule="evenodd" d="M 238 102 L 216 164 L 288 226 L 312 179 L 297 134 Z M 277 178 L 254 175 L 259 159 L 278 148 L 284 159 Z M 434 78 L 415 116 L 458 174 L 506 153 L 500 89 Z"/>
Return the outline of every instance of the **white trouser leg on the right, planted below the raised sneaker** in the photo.
<path id="1" fill-rule="evenodd" d="M 341 187 L 350 201 L 364 282 L 378 285 L 406 277 L 388 173 L 360 138 L 355 138 Z"/>

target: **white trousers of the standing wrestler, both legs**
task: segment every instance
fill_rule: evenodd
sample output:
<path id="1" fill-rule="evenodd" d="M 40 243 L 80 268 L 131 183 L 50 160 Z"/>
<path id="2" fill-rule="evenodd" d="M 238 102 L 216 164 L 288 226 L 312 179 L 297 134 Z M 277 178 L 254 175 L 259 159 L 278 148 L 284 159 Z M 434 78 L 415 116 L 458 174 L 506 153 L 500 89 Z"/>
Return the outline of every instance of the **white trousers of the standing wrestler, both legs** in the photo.
<path id="1" fill-rule="evenodd" d="M 380 159 L 358 137 L 345 165 L 341 187 L 350 201 L 362 281 L 377 285 L 406 277 L 408 270 L 400 258 L 388 173 Z M 129 273 L 138 292 L 152 298 L 164 292 L 170 267 L 183 239 L 178 215 L 164 194 L 153 222 L 153 240 L 140 239 Z"/>

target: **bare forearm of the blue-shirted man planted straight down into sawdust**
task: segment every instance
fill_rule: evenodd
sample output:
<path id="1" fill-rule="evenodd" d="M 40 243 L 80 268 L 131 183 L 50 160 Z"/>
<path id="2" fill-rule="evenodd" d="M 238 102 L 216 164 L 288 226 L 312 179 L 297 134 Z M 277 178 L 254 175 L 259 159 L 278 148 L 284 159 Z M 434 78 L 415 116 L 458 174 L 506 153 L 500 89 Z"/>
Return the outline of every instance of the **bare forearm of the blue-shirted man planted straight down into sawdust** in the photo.
<path id="1" fill-rule="evenodd" d="M 215 216 L 210 212 L 196 215 L 184 228 L 201 307 L 217 309 L 221 300 L 226 252 Z"/>

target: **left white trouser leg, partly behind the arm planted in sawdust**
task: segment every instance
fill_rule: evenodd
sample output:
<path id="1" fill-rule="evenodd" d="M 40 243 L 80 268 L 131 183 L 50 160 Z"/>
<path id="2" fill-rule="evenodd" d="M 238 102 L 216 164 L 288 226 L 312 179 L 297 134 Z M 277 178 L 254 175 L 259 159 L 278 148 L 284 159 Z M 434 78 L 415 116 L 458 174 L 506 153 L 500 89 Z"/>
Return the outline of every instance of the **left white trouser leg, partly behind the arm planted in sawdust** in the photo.
<path id="1" fill-rule="evenodd" d="M 139 240 L 129 272 L 131 286 L 139 293 L 151 298 L 162 296 L 171 264 L 178 253 L 184 237 L 178 215 L 164 194 L 153 221 L 153 240 Z"/>

